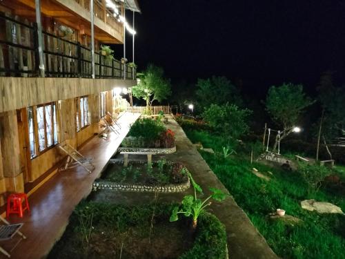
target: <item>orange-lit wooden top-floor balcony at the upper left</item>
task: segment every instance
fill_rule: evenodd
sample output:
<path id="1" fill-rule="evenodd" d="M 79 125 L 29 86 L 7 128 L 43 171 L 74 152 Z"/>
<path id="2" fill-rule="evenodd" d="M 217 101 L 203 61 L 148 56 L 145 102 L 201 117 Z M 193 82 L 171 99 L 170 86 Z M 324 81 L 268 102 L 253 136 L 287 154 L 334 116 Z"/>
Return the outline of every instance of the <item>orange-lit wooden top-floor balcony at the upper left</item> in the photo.
<path id="1" fill-rule="evenodd" d="M 12 15 L 18 15 L 35 21 L 34 0 L 3 0 L 1 6 L 10 10 Z M 85 35 L 91 35 L 90 30 L 90 0 L 41 0 L 42 21 L 59 21 Z M 94 1 L 95 39 L 105 44 L 122 44 L 124 27 L 107 10 L 105 0 Z M 49 24 L 48 24 L 49 26 Z"/>

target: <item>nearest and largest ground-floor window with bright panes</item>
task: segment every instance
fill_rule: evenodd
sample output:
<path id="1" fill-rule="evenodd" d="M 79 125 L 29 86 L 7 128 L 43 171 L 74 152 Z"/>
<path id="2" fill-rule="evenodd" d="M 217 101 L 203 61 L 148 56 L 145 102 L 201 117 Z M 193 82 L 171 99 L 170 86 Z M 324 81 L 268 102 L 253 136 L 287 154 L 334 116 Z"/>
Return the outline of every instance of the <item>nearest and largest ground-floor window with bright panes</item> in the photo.
<path id="1" fill-rule="evenodd" d="M 57 144 L 57 107 L 55 103 L 28 108 L 30 156 Z"/>

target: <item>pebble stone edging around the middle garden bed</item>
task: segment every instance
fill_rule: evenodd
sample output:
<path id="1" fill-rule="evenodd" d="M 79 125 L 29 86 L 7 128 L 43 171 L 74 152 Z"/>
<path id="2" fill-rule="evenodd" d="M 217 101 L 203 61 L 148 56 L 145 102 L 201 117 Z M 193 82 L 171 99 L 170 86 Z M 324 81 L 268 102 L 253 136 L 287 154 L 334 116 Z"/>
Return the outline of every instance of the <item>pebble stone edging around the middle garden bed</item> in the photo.
<path id="1" fill-rule="evenodd" d="M 123 162 L 112 162 L 113 164 L 123 164 Z M 132 164 L 145 164 L 145 162 L 131 162 Z M 178 163 L 171 163 L 178 164 Z M 184 166 L 186 169 L 186 167 Z M 186 169 L 188 170 L 188 169 Z M 92 183 L 92 191 L 110 190 L 110 191 L 134 191 L 134 192 L 150 192 L 155 193 L 180 193 L 186 191 L 190 187 L 190 180 L 186 176 L 186 182 L 181 184 L 165 184 L 165 185 L 141 185 L 141 184 L 120 184 L 105 180 L 98 180 Z"/>

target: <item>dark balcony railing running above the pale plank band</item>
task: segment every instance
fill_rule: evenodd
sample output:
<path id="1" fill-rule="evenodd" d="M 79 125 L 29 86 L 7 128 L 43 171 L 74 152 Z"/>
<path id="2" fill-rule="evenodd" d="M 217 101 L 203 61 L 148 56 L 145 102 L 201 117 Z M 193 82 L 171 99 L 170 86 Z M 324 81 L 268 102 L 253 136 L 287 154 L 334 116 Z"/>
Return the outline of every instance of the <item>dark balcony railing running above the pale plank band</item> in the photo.
<path id="1" fill-rule="evenodd" d="M 6 24 L 6 36 L 0 36 L 0 76 L 38 77 L 39 50 L 35 23 L 23 23 L 0 14 Z M 43 55 L 46 77 L 92 77 L 91 50 L 79 42 L 61 39 L 43 32 Z M 136 71 L 116 59 L 108 61 L 95 52 L 96 78 L 135 79 Z"/>

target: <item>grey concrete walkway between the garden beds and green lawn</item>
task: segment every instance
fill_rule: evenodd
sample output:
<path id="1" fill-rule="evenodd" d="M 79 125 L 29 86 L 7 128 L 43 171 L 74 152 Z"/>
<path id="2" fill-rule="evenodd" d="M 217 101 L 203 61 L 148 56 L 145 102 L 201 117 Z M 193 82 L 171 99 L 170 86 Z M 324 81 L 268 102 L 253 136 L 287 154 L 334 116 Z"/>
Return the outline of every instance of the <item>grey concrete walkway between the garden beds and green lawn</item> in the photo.
<path id="1" fill-rule="evenodd" d="M 195 181 L 201 185 L 206 195 L 208 195 L 208 187 L 216 187 L 228 193 L 195 146 L 188 140 L 188 137 L 186 137 L 186 134 L 177 122 L 169 118 L 167 126 L 175 132 L 177 152 L 170 155 L 162 155 L 161 157 L 184 163 L 190 173 L 193 174 Z M 157 160 L 159 157 L 156 155 L 154 159 Z M 186 193 L 193 193 L 193 189 L 190 188 L 185 193 L 161 193 L 158 199 L 162 202 L 179 202 Z M 112 201 L 126 204 L 153 202 L 155 199 L 154 196 L 154 193 L 120 193 L 113 191 L 92 193 L 94 200 L 106 199 L 108 202 Z M 232 197 L 227 198 L 221 203 L 214 202 L 209 210 L 217 215 L 217 218 L 226 226 L 230 258 L 277 258 L 266 240 L 255 229 L 246 213 L 236 204 Z"/>

